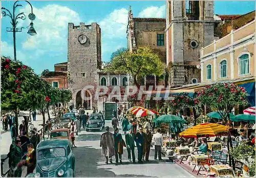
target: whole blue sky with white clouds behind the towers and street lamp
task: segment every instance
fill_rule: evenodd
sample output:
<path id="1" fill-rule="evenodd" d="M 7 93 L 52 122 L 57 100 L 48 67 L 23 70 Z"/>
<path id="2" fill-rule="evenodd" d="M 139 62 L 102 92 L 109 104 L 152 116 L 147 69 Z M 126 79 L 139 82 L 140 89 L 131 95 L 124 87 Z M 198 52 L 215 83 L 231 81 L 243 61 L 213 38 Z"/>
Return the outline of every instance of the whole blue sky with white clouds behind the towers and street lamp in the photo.
<path id="1" fill-rule="evenodd" d="M 13 1 L 2 1 L 2 7 L 12 11 Z M 16 33 L 17 60 L 31 66 L 37 74 L 48 69 L 54 71 L 54 64 L 68 61 L 68 23 L 96 22 L 101 28 L 102 61 L 108 62 L 111 54 L 127 47 L 126 26 L 129 6 L 134 17 L 165 18 L 165 1 L 30 1 L 36 19 L 33 21 L 37 32 L 27 34 L 28 29 Z M 16 12 L 28 15 L 31 8 L 26 2 L 20 3 Z M 215 14 L 245 14 L 255 10 L 254 1 L 217 1 Z M 10 18 L 1 16 L 1 55 L 13 58 L 13 34 Z M 28 16 L 19 19 L 17 27 L 28 27 Z"/>

